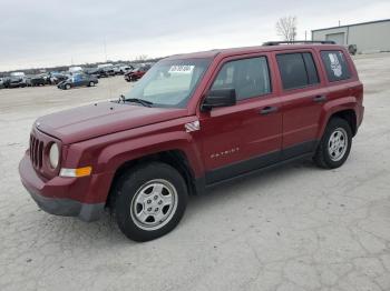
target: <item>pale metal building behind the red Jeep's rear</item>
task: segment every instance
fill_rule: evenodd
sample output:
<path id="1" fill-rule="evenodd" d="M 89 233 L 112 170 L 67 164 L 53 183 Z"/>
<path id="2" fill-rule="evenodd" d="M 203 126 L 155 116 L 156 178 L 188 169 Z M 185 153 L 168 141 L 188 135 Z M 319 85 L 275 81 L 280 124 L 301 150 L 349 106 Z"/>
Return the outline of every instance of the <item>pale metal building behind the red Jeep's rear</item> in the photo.
<path id="1" fill-rule="evenodd" d="M 358 53 L 390 51 L 390 19 L 312 30 L 312 40 L 355 44 Z"/>

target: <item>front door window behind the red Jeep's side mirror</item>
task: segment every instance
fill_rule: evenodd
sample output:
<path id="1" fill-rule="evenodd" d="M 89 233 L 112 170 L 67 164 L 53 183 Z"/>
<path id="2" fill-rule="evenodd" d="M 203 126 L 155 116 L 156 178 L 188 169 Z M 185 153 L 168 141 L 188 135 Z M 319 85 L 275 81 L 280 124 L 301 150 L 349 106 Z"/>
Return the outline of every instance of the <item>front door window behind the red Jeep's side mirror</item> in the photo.
<path id="1" fill-rule="evenodd" d="M 212 90 L 235 89 L 237 100 L 271 92 L 269 63 L 265 57 L 226 62 L 216 77 Z"/>

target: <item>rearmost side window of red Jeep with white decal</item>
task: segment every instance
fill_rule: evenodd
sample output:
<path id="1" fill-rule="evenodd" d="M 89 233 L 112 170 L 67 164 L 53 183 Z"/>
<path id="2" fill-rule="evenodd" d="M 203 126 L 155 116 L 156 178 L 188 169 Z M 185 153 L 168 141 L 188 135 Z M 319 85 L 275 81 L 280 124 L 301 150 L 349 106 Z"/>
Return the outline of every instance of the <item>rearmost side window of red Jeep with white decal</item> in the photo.
<path id="1" fill-rule="evenodd" d="M 342 51 L 321 51 L 321 59 L 325 66 L 328 80 L 330 82 L 351 78 L 351 73 Z"/>

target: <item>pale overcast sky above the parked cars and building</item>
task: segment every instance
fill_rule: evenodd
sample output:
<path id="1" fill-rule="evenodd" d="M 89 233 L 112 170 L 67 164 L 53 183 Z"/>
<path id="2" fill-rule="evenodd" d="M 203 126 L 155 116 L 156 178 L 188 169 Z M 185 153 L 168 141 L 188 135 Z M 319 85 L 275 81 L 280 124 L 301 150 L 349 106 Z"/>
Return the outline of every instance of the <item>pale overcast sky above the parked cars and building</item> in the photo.
<path id="1" fill-rule="evenodd" d="M 312 29 L 390 18 L 390 1 L 0 0 L 0 71 L 164 57 L 277 40 L 275 22 Z"/>

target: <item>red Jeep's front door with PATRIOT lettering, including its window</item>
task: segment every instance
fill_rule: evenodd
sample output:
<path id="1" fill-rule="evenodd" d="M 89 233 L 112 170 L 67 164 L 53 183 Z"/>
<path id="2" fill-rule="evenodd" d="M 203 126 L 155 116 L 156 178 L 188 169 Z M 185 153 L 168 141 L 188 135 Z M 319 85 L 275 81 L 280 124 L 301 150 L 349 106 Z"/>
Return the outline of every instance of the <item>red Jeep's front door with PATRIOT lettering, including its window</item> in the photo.
<path id="1" fill-rule="evenodd" d="M 235 89 L 237 103 L 201 114 L 206 184 L 277 162 L 282 148 L 280 98 L 272 91 L 269 56 L 227 59 L 213 89 Z"/>

